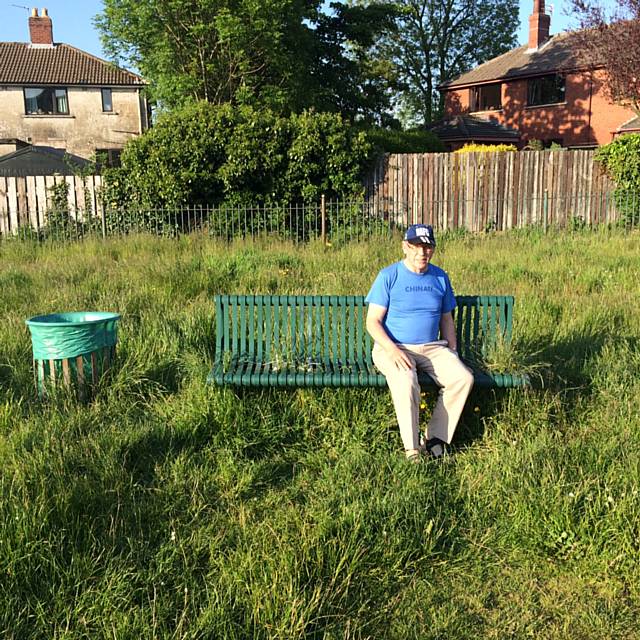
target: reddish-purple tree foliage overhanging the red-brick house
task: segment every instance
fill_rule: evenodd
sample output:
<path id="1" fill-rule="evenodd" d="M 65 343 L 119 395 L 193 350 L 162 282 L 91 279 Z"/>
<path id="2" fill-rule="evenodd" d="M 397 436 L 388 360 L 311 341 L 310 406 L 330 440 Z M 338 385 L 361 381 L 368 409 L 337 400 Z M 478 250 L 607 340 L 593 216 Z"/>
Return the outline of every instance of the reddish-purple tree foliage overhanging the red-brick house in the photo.
<path id="1" fill-rule="evenodd" d="M 640 0 L 616 0 L 609 15 L 598 0 L 571 0 L 571 8 L 576 47 L 603 66 L 609 98 L 640 115 Z"/>

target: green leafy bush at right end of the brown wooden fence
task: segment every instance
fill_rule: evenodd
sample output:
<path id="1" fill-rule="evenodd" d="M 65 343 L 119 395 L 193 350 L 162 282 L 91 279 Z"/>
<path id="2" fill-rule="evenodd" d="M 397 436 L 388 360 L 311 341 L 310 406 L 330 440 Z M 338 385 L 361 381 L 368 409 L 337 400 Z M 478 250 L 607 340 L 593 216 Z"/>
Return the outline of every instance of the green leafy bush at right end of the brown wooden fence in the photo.
<path id="1" fill-rule="evenodd" d="M 640 220 L 640 134 L 629 133 L 596 152 L 607 175 L 616 183 L 614 197 L 623 222 Z"/>

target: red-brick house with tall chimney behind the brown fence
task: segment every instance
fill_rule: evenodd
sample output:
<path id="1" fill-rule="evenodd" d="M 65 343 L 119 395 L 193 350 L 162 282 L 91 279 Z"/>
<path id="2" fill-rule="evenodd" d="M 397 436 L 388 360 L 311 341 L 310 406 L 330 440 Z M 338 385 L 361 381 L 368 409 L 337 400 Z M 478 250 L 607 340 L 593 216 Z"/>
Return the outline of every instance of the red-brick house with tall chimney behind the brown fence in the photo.
<path id="1" fill-rule="evenodd" d="M 467 142 L 506 142 L 504 128 L 518 133 L 519 148 L 532 140 L 589 148 L 640 131 L 636 114 L 605 96 L 602 68 L 581 58 L 571 33 L 550 36 L 550 23 L 544 0 L 534 0 L 527 45 L 438 87 L 445 118 L 434 131 L 444 130 L 442 140 L 450 149 Z M 484 138 L 463 131 L 459 123 L 469 119 L 476 129 L 486 129 Z"/>

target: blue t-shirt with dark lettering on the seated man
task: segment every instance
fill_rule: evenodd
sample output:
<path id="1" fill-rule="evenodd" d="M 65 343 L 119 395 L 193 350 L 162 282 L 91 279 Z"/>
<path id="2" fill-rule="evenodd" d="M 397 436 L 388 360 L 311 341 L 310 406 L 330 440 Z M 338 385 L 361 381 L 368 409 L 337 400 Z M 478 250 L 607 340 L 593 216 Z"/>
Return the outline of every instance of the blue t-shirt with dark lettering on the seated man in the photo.
<path id="1" fill-rule="evenodd" d="M 425 344 L 438 339 L 440 317 L 456 306 L 449 276 L 430 264 L 426 273 L 396 262 L 380 271 L 367 294 L 367 304 L 387 309 L 383 326 L 394 342 Z"/>

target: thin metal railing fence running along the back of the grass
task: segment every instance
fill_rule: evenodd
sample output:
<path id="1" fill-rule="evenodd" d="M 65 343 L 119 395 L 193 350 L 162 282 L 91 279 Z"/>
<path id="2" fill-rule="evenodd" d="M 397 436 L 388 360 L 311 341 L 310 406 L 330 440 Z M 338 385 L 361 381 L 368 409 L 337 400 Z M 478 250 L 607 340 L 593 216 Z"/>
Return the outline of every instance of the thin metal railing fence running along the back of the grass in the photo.
<path id="1" fill-rule="evenodd" d="M 200 233 L 233 240 L 277 236 L 294 242 L 348 242 L 388 236 L 423 222 L 439 231 L 505 231 L 531 226 L 543 229 L 640 227 L 640 194 L 610 192 L 579 197 L 500 201 L 439 199 L 411 205 L 394 200 L 330 201 L 260 205 L 183 206 L 156 209 L 52 209 L 44 215 L 18 212 L 0 225 L 0 240 L 73 241 L 146 233 L 176 237 Z"/>

